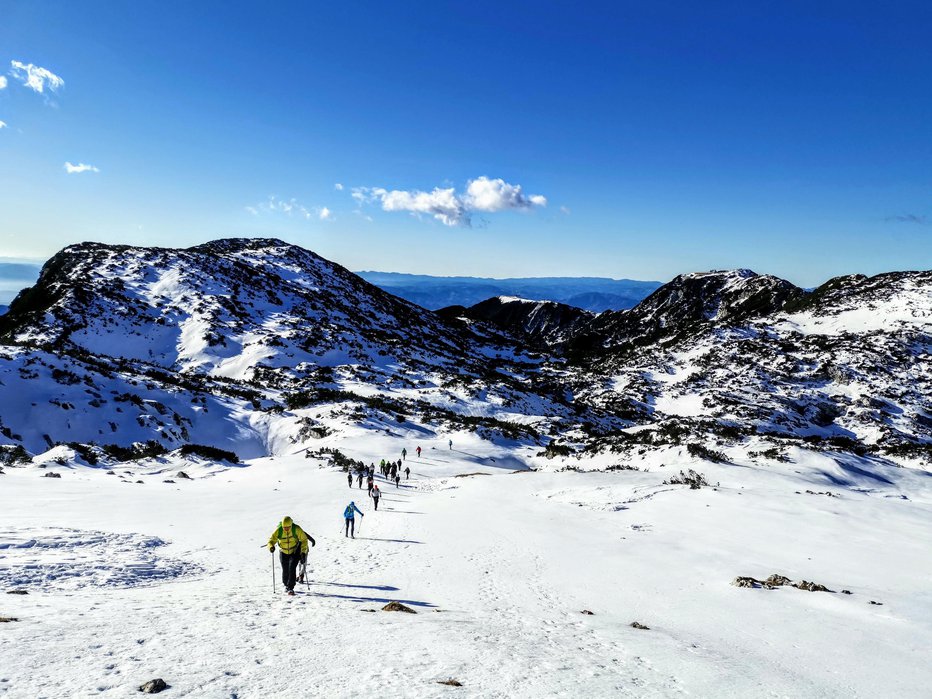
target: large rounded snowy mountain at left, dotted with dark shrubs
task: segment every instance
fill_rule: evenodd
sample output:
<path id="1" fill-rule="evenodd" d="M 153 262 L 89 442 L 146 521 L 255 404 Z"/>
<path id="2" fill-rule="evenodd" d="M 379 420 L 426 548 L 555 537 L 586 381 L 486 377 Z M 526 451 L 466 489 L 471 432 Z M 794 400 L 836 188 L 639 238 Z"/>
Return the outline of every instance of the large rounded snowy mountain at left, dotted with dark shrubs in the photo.
<path id="1" fill-rule="evenodd" d="M 30 451 L 157 440 L 257 455 L 325 432 L 305 414 L 324 403 L 347 421 L 372 408 L 511 435 L 534 433 L 512 419 L 569 410 L 562 393 L 526 390 L 540 360 L 513 340 L 276 240 L 71 246 L 0 318 L 0 338 L 2 429 Z"/>

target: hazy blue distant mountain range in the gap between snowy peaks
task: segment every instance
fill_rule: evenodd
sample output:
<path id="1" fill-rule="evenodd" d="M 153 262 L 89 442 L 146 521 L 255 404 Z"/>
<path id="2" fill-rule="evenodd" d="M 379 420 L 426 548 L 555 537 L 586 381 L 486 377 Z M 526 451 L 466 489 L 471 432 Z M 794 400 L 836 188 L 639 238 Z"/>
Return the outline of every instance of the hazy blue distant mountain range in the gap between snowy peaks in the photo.
<path id="1" fill-rule="evenodd" d="M 556 301 L 587 311 L 633 308 L 660 288 L 660 282 L 601 277 L 432 277 L 397 272 L 357 272 L 395 296 L 435 311 L 447 306 L 473 306 L 496 296 L 530 301 Z"/>

